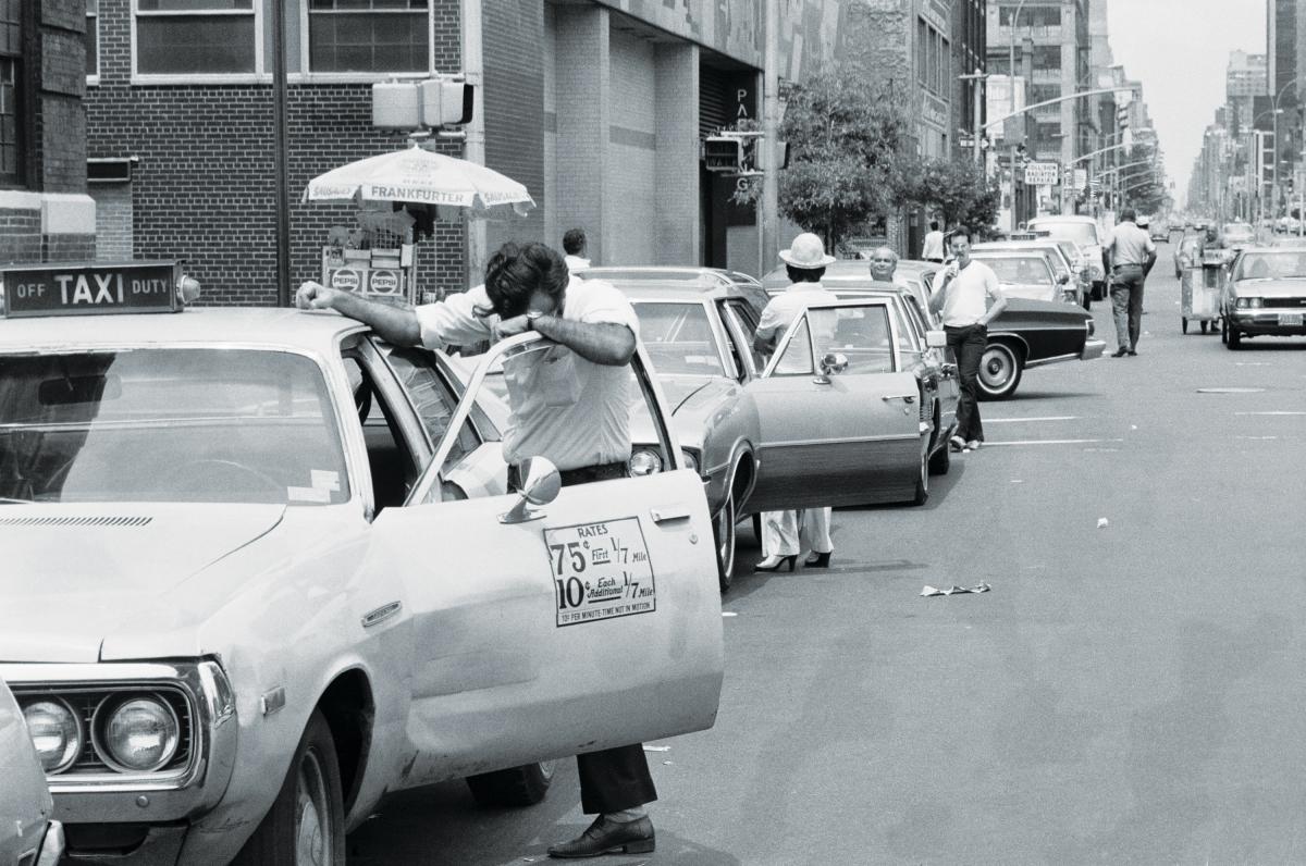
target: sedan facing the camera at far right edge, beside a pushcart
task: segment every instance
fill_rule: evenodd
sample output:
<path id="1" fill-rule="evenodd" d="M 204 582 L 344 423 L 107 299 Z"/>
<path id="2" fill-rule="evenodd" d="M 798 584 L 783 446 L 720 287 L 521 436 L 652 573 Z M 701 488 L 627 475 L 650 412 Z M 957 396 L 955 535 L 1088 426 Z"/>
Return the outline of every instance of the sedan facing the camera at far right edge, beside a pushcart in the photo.
<path id="1" fill-rule="evenodd" d="M 1306 336 L 1306 246 L 1245 249 L 1225 281 L 1220 338 Z"/>

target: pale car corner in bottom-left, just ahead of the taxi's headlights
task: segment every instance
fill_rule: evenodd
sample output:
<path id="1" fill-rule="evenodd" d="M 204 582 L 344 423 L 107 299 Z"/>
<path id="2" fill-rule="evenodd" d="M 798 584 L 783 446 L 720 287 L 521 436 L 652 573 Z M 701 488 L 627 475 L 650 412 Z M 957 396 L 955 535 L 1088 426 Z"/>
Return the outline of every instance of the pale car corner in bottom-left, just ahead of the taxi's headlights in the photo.
<path id="1" fill-rule="evenodd" d="M 60 758 L 61 737 L 50 721 L 40 704 L 20 709 L 0 679 L 0 863 L 5 866 L 55 866 L 64 853 L 64 828 L 51 820 L 55 803 L 42 768 Z M 33 738 L 42 743 L 40 752 Z"/>

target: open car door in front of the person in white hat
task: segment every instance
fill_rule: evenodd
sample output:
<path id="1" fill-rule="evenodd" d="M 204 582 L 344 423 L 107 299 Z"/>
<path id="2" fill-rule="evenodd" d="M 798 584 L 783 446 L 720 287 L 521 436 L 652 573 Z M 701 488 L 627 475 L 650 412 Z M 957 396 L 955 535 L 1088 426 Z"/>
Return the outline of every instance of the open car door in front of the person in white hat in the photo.
<path id="1" fill-rule="evenodd" d="M 761 379 L 761 448 L 750 511 L 909 499 L 929 425 L 902 371 L 899 323 L 883 298 L 811 304 L 781 337 Z"/>

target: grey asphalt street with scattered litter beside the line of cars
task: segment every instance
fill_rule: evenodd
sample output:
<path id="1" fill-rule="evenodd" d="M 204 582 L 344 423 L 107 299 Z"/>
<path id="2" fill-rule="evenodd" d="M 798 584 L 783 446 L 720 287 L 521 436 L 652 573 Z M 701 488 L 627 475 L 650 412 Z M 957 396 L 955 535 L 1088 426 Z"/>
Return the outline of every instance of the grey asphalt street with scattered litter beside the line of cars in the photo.
<path id="1" fill-rule="evenodd" d="M 1139 357 L 1028 371 L 926 505 L 836 511 L 831 569 L 747 573 L 741 524 L 717 725 L 650 745 L 657 853 L 603 862 L 1306 861 L 1306 341 L 1181 334 L 1171 253 Z M 586 824 L 564 760 L 532 809 L 394 795 L 349 862 Z"/>

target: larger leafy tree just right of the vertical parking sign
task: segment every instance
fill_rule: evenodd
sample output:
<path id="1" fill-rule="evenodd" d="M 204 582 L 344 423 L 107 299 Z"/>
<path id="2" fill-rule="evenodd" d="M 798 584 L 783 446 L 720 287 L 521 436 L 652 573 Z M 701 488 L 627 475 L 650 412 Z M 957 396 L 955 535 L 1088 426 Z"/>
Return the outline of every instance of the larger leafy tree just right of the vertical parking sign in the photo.
<path id="1" fill-rule="evenodd" d="M 780 212 L 821 235 L 827 249 L 891 212 L 888 178 L 906 119 L 865 74 L 836 65 L 797 86 L 780 135 L 789 142 Z M 754 183 L 737 200 L 756 201 L 759 193 Z"/>

